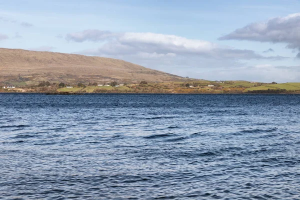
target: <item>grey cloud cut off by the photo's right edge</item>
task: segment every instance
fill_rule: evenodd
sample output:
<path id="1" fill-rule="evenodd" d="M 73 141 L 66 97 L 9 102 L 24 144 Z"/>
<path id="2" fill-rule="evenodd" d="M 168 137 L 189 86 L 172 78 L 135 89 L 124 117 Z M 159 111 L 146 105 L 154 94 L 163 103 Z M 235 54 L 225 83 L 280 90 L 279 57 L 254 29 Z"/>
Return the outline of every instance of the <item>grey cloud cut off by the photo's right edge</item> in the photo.
<path id="1" fill-rule="evenodd" d="M 275 17 L 266 22 L 255 22 L 218 39 L 237 39 L 260 42 L 286 43 L 287 48 L 300 50 L 300 13 Z"/>

